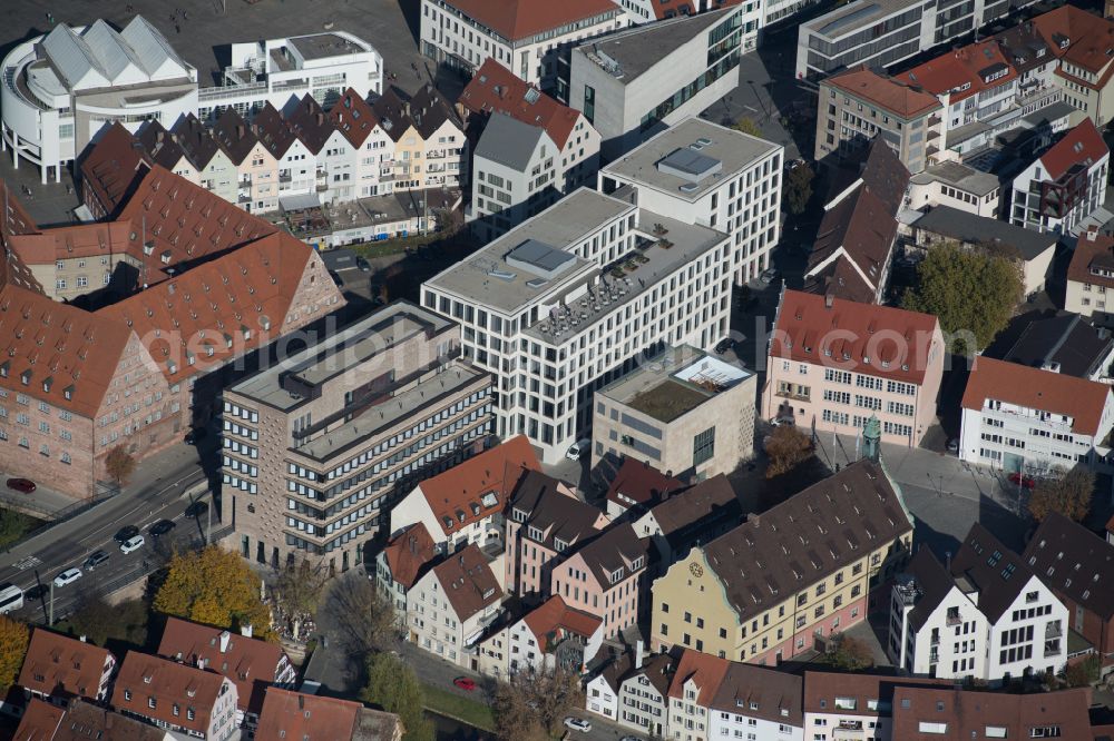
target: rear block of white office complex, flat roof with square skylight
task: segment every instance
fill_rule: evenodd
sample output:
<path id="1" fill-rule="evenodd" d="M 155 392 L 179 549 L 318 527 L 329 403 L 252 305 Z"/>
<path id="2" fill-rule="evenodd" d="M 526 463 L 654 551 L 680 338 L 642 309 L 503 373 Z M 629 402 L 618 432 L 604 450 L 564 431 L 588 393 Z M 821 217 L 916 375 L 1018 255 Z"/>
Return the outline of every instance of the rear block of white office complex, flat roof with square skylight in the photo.
<path id="1" fill-rule="evenodd" d="M 783 157 L 780 145 L 688 118 L 604 168 L 599 189 L 639 209 L 727 234 L 723 270 L 742 285 L 770 267 L 780 238 Z"/>

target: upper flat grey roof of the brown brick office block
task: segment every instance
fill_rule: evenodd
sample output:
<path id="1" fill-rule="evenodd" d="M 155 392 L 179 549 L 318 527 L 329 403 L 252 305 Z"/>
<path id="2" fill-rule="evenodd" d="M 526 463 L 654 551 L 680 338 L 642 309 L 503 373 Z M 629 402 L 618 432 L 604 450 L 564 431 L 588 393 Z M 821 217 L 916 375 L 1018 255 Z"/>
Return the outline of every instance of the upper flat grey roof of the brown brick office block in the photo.
<path id="1" fill-rule="evenodd" d="M 306 399 L 283 388 L 282 379 L 295 376 L 304 384 L 320 386 L 349 368 L 367 363 L 389 347 L 432 327 L 434 333 L 452 323 L 409 302 L 397 302 L 292 355 L 232 387 L 236 394 L 290 412 Z"/>

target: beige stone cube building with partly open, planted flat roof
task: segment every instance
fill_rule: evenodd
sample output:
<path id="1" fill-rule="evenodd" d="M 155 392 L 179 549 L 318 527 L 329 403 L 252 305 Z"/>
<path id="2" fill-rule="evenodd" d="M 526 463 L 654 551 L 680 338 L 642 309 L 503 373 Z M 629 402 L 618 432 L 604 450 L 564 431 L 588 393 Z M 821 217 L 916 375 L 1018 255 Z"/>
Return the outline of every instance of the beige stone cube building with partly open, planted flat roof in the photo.
<path id="1" fill-rule="evenodd" d="M 668 347 L 596 392 L 592 465 L 623 457 L 703 480 L 754 455 L 750 370 L 690 345 Z"/>

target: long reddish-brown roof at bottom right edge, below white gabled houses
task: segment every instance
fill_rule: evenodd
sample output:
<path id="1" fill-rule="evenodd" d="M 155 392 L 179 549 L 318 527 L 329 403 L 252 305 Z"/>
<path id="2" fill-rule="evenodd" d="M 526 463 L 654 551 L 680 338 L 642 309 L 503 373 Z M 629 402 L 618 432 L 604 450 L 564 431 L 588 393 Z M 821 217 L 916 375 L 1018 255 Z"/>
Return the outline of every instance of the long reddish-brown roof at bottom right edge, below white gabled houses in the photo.
<path id="1" fill-rule="evenodd" d="M 922 722 L 944 723 L 949 739 L 1030 739 L 1055 735 L 1091 738 L 1091 688 L 1006 694 L 936 686 L 899 686 L 893 691 L 893 738 L 901 741 L 939 739 L 920 729 Z M 991 727 L 1005 730 L 991 737 Z M 1034 729 L 1056 727 L 1055 733 Z M 1038 735 L 1039 733 L 1039 735 Z"/>

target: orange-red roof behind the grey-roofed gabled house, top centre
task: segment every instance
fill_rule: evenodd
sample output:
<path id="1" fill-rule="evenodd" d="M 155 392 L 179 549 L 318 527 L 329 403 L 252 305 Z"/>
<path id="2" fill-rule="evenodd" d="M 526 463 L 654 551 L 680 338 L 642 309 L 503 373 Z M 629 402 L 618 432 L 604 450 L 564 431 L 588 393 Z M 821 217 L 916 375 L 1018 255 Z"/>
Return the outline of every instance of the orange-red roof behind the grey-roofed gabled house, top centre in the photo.
<path id="1" fill-rule="evenodd" d="M 488 57 L 457 100 L 472 113 L 506 113 L 529 126 L 540 126 L 564 149 L 580 111 L 563 106 Z"/>

